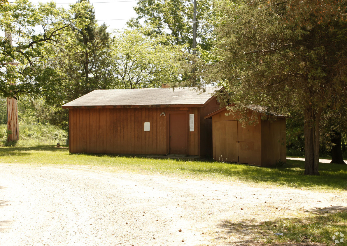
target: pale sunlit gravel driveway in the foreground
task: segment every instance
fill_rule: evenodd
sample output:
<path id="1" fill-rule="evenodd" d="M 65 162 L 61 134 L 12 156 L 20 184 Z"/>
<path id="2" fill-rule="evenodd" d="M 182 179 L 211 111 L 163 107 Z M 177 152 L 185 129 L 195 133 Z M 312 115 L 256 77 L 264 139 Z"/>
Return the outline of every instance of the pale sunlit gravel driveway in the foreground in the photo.
<path id="1" fill-rule="evenodd" d="M 0 164 L 0 244 L 230 245 L 242 238 L 225 221 L 338 209 L 347 207 L 346 197 L 88 166 Z"/>

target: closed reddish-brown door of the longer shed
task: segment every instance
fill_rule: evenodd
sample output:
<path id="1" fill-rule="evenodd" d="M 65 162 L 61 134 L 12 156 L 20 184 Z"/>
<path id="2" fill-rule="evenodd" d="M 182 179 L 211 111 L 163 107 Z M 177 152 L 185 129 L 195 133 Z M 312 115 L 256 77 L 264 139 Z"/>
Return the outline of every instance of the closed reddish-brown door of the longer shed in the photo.
<path id="1" fill-rule="evenodd" d="M 170 113 L 170 154 L 187 154 L 187 125 L 186 113 Z"/>

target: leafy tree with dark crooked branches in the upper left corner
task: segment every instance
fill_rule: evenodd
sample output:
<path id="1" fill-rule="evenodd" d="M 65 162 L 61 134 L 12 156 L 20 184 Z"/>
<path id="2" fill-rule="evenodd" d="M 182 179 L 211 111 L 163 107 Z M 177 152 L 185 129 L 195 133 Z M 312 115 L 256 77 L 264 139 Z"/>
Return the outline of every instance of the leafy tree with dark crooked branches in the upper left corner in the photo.
<path id="1" fill-rule="evenodd" d="M 73 13 L 85 16 L 87 7 L 87 3 L 76 3 L 65 10 L 57 8 L 54 2 L 35 7 L 27 0 L 0 3 L 0 29 L 10 33 L 15 41 L 12 46 L 7 36 L 0 37 L 0 93 L 3 96 L 40 94 L 42 86 L 56 78 L 54 69 L 47 64 L 51 56 L 49 45 L 58 45 L 64 40 L 65 31 L 71 25 L 82 28 L 86 20 L 74 18 Z"/>

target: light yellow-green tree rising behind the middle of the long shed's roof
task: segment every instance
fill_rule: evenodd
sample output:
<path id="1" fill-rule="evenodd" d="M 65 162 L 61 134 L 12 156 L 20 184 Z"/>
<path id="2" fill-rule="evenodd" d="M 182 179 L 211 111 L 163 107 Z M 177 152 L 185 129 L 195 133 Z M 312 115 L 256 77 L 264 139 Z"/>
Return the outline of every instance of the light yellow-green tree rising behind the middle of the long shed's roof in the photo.
<path id="1" fill-rule="evenodd" d="M 117 88 L 160 87 L 180 81 L 178 46 L 163 45 L 164 36 L 146 37 L 139 30 L 118 33 L 112 44 L 111 67 L 119 81 Z"/>

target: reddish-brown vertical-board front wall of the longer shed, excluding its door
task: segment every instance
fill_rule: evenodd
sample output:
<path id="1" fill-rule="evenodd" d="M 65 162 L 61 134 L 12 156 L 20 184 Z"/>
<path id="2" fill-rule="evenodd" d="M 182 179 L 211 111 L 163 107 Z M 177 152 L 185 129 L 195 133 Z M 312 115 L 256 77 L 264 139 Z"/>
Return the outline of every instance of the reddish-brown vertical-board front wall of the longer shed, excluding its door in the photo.
<path id="1" fill-rule="evenodd" d="M 165 112 L 165 116 L 160 116 Z M 69 109 L 71 153 L 168 154 L 170 113 L 194 114 L 188 155 L 200 155 L 199 108 Z M 144 131 L 150 122 L 150 131 Z"/>

